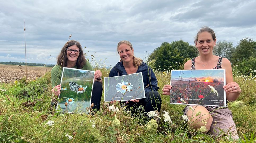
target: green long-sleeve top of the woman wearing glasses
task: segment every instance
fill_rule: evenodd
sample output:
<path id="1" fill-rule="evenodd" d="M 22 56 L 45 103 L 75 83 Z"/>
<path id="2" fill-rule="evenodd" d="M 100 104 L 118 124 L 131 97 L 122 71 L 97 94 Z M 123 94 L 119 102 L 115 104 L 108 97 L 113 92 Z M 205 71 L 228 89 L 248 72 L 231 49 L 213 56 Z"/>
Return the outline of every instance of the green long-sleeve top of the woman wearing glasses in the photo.
<path id="1" fill-rule="evenodd" d="M 77 68 L 77 67 L 74 66 L 73 68 Z M 94 71 L 93 67 L 91 66 L 91 64 L 88 61 L 86 61 L 82 70 Z M 62 71 L 63 71 L 63 67 L 61 67 L 60 65 L 55 65 L 52 68 L 52 70 L 51 70 L 52 88 L 55 87 L 56 85 L 60 84 Z"/>

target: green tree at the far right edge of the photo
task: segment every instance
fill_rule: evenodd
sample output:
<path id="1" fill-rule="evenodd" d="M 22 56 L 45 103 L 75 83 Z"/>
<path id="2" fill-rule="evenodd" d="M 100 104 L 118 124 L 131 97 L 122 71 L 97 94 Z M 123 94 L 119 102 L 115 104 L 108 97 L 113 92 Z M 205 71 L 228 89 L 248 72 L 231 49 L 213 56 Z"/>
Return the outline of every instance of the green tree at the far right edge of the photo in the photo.
<path id="1" fill-rule="evenodd" d="M 238 65 L 244 59 L 248 60 L 249 57 L 256 57 L 256 42 L 246 37 L 239 41 L 232 54 L 231 62 L 233 65 Z"/>

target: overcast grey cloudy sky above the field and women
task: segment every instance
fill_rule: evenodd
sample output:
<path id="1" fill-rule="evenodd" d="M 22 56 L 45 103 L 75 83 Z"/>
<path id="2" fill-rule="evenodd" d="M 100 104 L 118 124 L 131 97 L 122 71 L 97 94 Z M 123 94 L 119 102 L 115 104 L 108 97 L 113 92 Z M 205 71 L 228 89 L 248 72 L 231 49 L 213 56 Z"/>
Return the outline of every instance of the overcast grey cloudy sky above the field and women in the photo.
<path id="1" fill-rule="evenodd" d="M 193 38 L 202 26 L 216 32 L 217 41 L 256 40 L 256 0 L 248 1 L 5 1 L 0 0 L 0 61 L 56 64 L 67 42 L 77 40 L 87 58 L 119 61 L 117 43 L 128 40 L 134 55 L 145 60 L 162 42 Z M 88 52 L 89 51 L 89 52 Z M 96 52 L 96 53 L 94 53 Z M 51 55 L 51 56 L 50 56 Z"/>

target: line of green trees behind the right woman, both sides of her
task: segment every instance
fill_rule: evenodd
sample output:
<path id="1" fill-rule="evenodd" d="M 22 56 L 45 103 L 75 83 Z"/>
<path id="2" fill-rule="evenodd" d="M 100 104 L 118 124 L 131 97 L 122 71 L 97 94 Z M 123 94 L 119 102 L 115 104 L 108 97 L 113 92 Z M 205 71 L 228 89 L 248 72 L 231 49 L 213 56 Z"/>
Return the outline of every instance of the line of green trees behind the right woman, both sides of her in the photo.
<path id="1" fill-rule="evenodd" d="M 256 70 L 256 41 L 252 38 L 242 38 L 235 47 L 232 42 L 219 41 L 213 48 L 213 54 L 227 58 L 232 66 L 237 65 L 238 71 L 243 74 Z M 197 56 L 198 50 L 194 45 L 179 40 L 171 43 L 163 42 L 148 56 L 147 61 L 155 59 L 151 67 L 164 71 L 178 66 L 183 68 L 186 61 Z"/>

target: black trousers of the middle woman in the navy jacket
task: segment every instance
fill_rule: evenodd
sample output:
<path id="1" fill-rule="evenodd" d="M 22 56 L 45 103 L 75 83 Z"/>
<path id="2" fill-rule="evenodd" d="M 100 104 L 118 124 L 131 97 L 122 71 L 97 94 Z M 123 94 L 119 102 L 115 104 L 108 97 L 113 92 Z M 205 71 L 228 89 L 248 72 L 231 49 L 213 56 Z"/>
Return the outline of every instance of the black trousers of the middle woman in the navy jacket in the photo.
<path id="1" fill-rule="evenodd" d="M 141 110 L 136 110 L 139 106 L 143 106 L 145 111 L 160 111 L 162 100 L 160 97 L 160 94 L 157 91 L 149 91 L 145 93 L 146 98 L 140 99 L 138 103 L 134 103 L 129 101 L 129 103 L 125 104 L 125 101 L 122 101 L 122 106 L 127 106 L 126 110 L 131 110 L 132 113 L 136 114 L 140 112 Z"/>

